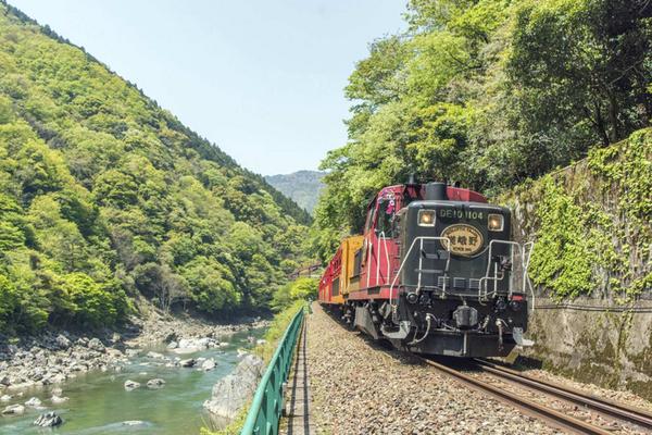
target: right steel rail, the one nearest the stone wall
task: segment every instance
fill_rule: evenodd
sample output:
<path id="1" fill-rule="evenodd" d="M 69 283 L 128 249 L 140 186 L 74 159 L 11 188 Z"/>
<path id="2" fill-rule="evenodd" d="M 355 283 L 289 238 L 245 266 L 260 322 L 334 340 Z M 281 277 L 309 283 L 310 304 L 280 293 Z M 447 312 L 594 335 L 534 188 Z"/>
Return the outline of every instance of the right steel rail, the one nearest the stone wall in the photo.
<path id="1" fill-rule="evenodd" d="M 652 413 L 647 412 L 642 409 L 637 409 L 634 407 L 628 407 L 625 405 L 612 402 L 610 400 L 601 399 L 599 397 L 589 396 L 579 390 L 563 385 L 554 384 L 548 381 L 536 380 L 526 376 L 523 373 L 519 373 L 515 370 L 503 368 L 501 365 L 493 364 L 486 360 L 475 359 L 474 361 L 481 366 L 481 370 L 485 370 L 502 378 L 513 381 L 521 385 L 526 385 L 530 388 L 535 388 L 537 390 L 556 396 L 563 400 L 567 400 L 581 407 L 586 407 L 594 411 L 607 414 L 610 417 L 615 417 L 619 420 L 637 424 L 641 427 L 652 430 Z"/>

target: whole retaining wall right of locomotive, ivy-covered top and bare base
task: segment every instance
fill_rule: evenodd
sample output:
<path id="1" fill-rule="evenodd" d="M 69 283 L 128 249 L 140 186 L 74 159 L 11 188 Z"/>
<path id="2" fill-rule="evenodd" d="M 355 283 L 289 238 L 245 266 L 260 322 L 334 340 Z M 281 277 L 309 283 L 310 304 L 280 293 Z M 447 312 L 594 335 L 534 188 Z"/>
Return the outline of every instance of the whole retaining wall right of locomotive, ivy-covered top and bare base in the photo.
<path id="1" fill-rule="evenodd" d="M 497 201 L 513 210 L 538 304 L 616 310 L 537 310 L 526 356 L 544 368 L 652 399 L 652 128 L 586 160 L 516 186 Z M 647 300 L 645 300 L 647 299 Z"/>

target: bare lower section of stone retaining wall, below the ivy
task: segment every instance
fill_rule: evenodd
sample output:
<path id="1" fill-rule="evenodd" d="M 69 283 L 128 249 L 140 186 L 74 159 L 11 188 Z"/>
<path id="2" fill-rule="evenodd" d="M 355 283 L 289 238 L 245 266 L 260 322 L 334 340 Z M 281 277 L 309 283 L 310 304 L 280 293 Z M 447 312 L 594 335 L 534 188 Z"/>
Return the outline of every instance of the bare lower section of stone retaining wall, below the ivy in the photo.
<path id="1" fill-rule="evenodd" d="M 652 301 L 634 306 L 648 312 L 610 312 L 613 302 L 592 298 L 573 303 L 605 311 L 536 309 L 528 331 L 535 346 L 523 355 L 552 372 L 652 400 Z M 537 304 L 554 301 L 540 298 Z"/>

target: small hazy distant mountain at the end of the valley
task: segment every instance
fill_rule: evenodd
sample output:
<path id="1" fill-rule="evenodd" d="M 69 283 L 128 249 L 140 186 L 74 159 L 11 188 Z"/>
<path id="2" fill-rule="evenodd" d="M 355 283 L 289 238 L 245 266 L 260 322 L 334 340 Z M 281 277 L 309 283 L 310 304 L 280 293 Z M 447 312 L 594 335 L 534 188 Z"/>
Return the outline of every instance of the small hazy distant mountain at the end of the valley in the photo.
<path id="1" fill-rule="evenodd" d="M 324 187 L 324 175 L 321 171 L 297 171 L 291 174 L 266 175 L 265 181 L 312 213 Z"/>

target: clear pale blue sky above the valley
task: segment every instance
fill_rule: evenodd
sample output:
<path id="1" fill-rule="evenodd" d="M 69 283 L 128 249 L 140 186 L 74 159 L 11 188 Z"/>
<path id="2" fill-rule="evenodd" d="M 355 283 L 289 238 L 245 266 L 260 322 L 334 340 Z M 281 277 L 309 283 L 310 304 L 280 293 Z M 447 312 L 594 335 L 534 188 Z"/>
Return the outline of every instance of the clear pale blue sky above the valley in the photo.
<path id="1" fill-rule="evenodd" d="M 343 87 L 404 0 L 10 0 L 240 164 L 316 169 L 347 139 Z"/>

